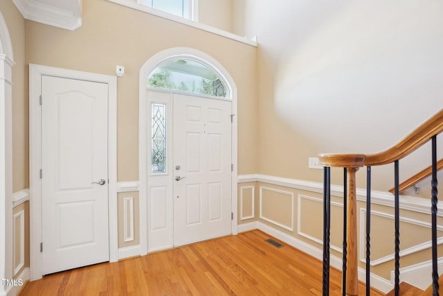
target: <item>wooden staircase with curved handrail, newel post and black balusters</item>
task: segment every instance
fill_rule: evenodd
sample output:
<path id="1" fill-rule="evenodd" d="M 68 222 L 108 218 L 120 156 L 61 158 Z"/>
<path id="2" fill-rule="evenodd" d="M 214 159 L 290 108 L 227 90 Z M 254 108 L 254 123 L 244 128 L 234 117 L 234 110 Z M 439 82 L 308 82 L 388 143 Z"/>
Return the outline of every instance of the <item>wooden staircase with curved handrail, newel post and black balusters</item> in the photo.
<path id="1" fill-rule="evenodd" d="M 400 202 L 399 202 L 399 161 L 406 156 L 413 153 L 425 143 L 431 143 L 431 159 L 432 166 L 426 170 L 415 175 L 408 182 L 404 182 L 406 188 L 412 186 L 417 180 L 426 178 L 431 172 L 431 220 L 432 220 L 432 259 L 433 266 L 437 262 L 437 171 L 442 169 L 443 161 L 437 164 L 437 135 L 443 133 L 443 110 L 431 116 L 422 125 L 410 132 L 408 136 L 404 137 L 390 148 L 374 154 L 359 154 L 359 153 L 345 153 L 345 154 L 320 154 L 320 164 L 324 166 L 324 185 L 323 185 L 323 295 L 328 295 L 329 291 L 329 256 L 330 256 L 330 227 L 331 227 L 331 168 L 343 168 L 343 189 L 345 200 L 343 204 L 343 290 L 345 295 L 356 296 L 359 295 L 358 290 L 358 268 L 359 268 L 359 254 L 357 246 L 357 196 L 356 196 L 356 171 L 359 168 L 366 168 L 366 212 L 371 213 L 371 168 L 372 166 L 382 166 L 386 164 L 394 165 L 394 208 L 395 208 L 395 286 L 399 287 L 399 225 L 400 225 Z M 412 182 L 412 183 L 410 183 Z M 370 287 L 370 217 L 366 215 L 366 283 Z M 437 268 L 433 267 L 434 274 L 437 274 Z M 436 279 L 434 279 L 436 281 Z M 442 278 L 438 280 L 440 281 Z M 431 288 L 425 291 L 416 290 L 406 283 L 401 284 L 403 288 L 400 289 L 400 295 L 432 295 Z M 443 282 L 440 284 L 440 293 L 443 295 Z M 366 295 L 370 295 L 370 291 L 366 290 Z M 395 292 L 392 291 L 392 294 Z"/>

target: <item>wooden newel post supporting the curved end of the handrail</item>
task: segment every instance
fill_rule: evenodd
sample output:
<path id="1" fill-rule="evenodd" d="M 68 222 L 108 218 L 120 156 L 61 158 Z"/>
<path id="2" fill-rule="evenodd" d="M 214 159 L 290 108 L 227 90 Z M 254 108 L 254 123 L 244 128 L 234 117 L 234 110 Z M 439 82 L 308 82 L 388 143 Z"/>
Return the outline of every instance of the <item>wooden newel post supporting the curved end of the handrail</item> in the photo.
<path id="1" fill-rule="evenodd" d="M 359 168 L 347 168 L 347 272 L 346 295 L 359 294 L 359 257 L 357 252 L 357 199 L 356 171 Z"/>

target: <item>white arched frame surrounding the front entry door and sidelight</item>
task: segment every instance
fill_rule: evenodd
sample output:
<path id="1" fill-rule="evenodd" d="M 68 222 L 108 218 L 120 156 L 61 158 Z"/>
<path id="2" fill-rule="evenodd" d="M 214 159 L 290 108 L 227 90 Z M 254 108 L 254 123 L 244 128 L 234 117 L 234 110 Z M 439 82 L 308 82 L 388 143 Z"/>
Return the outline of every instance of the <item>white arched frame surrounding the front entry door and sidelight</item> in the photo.
<path id="1" fill-rule="evenodd" d="M 233 212 L 233 220 L 231 221 L 231 231 L 232 234 L 237 234 L 237 85 L 233 78 L 230 76 L 229 72 L 217 61 L 215 58 L 211 57 L 203 51 L 197 49 L 192 49 L 189 47 L 176 47 L 172 49 L 166 49 L 159 53 L 153 55 L 149 60 L 143 64 L 140 69 L 139 75 L 139 116 L 138 116 L 138 162 L 139 162 L 139 186 L 138 190 L 140 193 L 140 246 L 141 255 L 147 254 L 147 239 L 148 239 L 148 229 L 147 229 L 147 215 L 148 215 L 148 204 L 147 204 L 147 182 L 148 182 L 148 151 L 147 151 L 147 132 L 148 132 L 148 119 L 146 116 L 147 102 L 147 78 L 156 67 L 164 62 L 177 59 L 190 59 L 197 62 L 201 62 L 206 67 L 217 73 L 217 76 L 225 82 L 225 85 L 229 91 L 230 101 L 232 102 L 232 134 L 231 134 L 231 149 L 232 149 L 232 178 L 231 178 L 231 211 Z M 172 91 L 171 91 L 172 92 Z M 192 95 L 192 94 L 191 94 Z"/>

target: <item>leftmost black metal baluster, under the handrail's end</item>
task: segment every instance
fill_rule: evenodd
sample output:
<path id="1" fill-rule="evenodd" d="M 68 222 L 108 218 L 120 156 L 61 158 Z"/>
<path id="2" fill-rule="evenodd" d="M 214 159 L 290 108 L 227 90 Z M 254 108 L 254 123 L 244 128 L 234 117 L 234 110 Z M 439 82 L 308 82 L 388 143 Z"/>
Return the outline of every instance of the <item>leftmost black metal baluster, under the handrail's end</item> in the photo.
<path id="1" fill-rule="evenodd" d="M 331 168 L 325 166 L 323 181 L 323 296 L 329 296 L 329 236 L 331 229 Z"/>

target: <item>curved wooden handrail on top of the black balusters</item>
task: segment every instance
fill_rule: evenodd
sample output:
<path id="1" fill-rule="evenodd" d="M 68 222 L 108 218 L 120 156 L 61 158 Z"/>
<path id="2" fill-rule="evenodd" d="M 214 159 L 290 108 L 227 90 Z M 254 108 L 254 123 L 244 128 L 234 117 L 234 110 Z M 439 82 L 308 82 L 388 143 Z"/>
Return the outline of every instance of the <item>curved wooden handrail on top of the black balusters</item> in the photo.
<path id="1" fill-rule="evenodd" d="M 437 112 L 418 128 L 413 130 L 395 145 L 370 155 L 362 154 L 320 154 L 320 164 L 325 166 L 355 168 L 361 166 L 381 166 L 390 164 L 413 153 L 417 148 L 423 146 L 436 134 L 443 132 L 443 109 Z M 363 160 L 361 159 L 363 157 Z M 362 163 L 363 162 L 363 163 Z"/>

